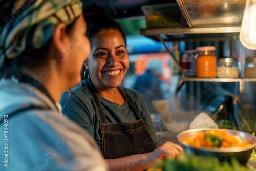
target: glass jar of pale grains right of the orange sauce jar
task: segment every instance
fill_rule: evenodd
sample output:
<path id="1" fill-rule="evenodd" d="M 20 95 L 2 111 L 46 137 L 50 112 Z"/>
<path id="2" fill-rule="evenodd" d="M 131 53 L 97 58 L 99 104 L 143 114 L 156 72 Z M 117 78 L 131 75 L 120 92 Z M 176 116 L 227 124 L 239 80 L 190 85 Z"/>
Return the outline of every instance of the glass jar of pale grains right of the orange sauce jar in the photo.
<path id="1" fill-rule="evenodd" d="M 236 58 L 220 58 L 217 61 L 217 78 L 238 78 L 239 69 Z"/>

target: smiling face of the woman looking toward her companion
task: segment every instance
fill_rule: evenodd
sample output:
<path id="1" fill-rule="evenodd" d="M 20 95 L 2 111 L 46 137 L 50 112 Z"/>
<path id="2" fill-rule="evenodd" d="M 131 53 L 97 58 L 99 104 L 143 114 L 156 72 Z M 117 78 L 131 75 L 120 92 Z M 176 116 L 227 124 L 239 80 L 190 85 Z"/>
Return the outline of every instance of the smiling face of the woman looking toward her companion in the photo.
<path id="1" fill-rule="evenodd" d="M 95 34 L 91 43 L 86 65 L 94 86 L 100 90 L 118 87 L 129 67 L 122 35 L 115 30 L 104 30 Z"/>

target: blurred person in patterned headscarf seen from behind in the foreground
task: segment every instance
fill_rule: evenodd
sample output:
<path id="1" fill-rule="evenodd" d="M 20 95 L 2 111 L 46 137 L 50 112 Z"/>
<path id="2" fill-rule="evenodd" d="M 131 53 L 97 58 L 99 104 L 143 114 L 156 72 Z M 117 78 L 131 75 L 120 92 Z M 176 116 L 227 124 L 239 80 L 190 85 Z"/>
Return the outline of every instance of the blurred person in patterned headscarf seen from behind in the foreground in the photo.
<path id="1" fill-rule="evenodd" d="M 10 0 L 0 8 L 0 170 L 108 170 L 59 104 L 91 49 L 81 2 Z"/>

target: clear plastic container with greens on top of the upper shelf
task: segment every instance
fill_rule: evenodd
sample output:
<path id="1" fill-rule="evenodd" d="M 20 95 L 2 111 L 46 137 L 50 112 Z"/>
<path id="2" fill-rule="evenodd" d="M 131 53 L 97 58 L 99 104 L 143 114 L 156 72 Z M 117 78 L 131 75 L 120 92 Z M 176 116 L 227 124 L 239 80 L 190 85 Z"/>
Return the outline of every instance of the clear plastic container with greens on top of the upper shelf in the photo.
<path id="1" fill-rule="evenodd" d="M 186 27 L 187 22 L 177 3 L 141 6 L 147 28 Z"/>

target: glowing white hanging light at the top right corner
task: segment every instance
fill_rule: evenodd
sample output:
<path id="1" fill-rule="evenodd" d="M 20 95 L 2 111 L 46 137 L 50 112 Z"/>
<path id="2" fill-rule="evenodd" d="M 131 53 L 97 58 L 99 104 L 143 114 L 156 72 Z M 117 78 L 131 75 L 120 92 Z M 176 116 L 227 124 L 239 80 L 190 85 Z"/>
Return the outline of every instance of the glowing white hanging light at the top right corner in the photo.
<path id="1" fill-rule="evenodd" d="M 244 47 L 256 50 L 256 0 L 246 0 L 239 39 Z"/>

